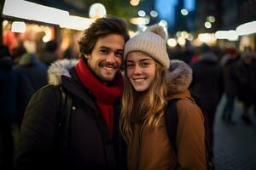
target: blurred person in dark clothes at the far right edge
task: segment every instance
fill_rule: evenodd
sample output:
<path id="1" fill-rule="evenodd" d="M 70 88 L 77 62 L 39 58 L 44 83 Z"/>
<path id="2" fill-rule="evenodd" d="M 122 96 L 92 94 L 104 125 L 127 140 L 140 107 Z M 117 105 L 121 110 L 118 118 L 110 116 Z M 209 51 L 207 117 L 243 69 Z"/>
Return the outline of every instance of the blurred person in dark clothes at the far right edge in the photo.
<path id="1" fill-rule="evenodd" d="M 238 99 L 243 105 L 241 119 L 247 125 L 252 124 L 249 115 L 249 109 L 253 105 L 255 97 L 252 93 L 256 88 L 255 71 L 253 71 L 253 53 L 250 50 L 245 50 L 241 54 L 241 59 L 237 63 L 237 78 L 238 78 Z"/>

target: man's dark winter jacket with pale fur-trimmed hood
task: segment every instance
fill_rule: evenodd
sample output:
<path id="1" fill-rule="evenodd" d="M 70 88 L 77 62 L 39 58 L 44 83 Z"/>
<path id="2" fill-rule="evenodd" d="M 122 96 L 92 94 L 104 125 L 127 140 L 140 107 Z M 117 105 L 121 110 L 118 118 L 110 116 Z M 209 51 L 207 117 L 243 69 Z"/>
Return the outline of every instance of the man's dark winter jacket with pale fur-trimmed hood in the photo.
<path id="1" fill-rule="evenodd" d="M 74 65 L 75 61 L 70 60 L 51 65 L 49 85 L 39 89 L 27 106 L 20 130 L 16 159 L 18 169 L 107 169 L 104 141 L 96 117 L 100 117 L 103 127 L 108 127 L 96 106 L 95 97 L 80 82 Z M 90 69 L 87 71 L 90 77 L 94 75 Z M 114 80 L 119 81 L 119 78 L 120 73 Z M 59 84 L 73 98 L 68 144 L 67 149 L 61 152 L 61 160 L 58 160 L 60 153 L 56 149 L 59 143 L 58 139 L 55 139 L 56 116 L 61 105 L 55 85 Z M 122 155 L 119 154 L 123 144 L 118 128 L 119 111 L 119 101 L 116 101 L 113 105 L 113 141 L 110 141 L 114 145 L 115 157 L 110 159 L 116 159 L 117 164 L 124 165 L 120 163 Z M 111 134 L 108 132 L 108 135 Z"/>

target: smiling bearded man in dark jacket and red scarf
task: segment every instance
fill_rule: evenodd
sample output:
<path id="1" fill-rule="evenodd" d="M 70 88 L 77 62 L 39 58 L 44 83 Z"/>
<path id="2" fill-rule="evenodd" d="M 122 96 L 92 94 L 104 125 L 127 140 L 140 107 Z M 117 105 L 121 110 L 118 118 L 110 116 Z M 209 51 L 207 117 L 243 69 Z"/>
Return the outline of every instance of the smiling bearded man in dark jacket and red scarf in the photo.
<path id="1" fill-rule="evenodd" d="M 123 90 L 119 68 L 128 39 L 123 20 L 113 16 L 98 19 L 79 41 L 81 57 L 76 64 L 64 60 L 51 65 L 50 84 L 38 90 L 26 108 L 17 169 L 125 166 L 119 134 L 119 97 Z M 61 107 L 56 86 L 73 100 L 66 147 L 59 147 L 64 139 L 56 130 Z"/>

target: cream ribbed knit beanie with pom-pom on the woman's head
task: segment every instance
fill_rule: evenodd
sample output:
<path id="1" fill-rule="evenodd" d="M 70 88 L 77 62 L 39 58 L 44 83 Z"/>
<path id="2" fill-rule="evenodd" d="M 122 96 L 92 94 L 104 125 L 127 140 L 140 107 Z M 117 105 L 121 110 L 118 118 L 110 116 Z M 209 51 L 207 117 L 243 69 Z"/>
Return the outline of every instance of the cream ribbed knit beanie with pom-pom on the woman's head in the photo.
<path id="1" fill-rule="evenodd" d="M 161 65 L 169 68 L 170 60 L 166 51 L 166 32 L 162 26 L 149 26 L 143 33 L 137 34 L 125 43 L 125 54 L 132 51 L 140 51 L 148 54 L 153 59 L 157 60 Z"/>

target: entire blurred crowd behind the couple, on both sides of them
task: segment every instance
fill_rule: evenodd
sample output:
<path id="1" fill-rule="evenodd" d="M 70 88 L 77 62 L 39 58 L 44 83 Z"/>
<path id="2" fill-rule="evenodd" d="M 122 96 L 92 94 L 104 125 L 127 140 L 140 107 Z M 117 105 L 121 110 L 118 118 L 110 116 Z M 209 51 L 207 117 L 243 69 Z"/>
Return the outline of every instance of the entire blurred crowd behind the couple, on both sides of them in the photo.
<path id="1" fill-rule="evenodd" d="M 256 114 L 256 54 L 252 48 L 216 48 L 207 44 L 167 49 L 170 59 L 181 59 L 193 70 L 189 87 L 205 116 L 207 137 L 213 144 L 213 122 L 221 97 L 226 97 L 222 119 L 235 124 L 232 113 L 235 100 L 243 105 L 241 120 L 252 124 L 250 108 Z M 72 48 L 58 51 L 58 44 L 49 41 L 38 54 L 30 54 L 20 46 L 10 53 L 0 46 L 0 167 L 11 167 L 15 155 L 14 128 L 19 131 L 26 105 L 32 94 L 47 84 L 47 70 L 57 59 L 77 59 Z M 254 95 L 253 95 L 254 94 Z"/>

